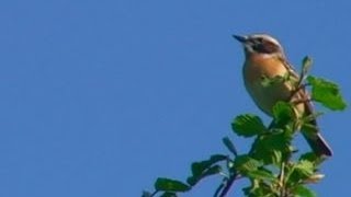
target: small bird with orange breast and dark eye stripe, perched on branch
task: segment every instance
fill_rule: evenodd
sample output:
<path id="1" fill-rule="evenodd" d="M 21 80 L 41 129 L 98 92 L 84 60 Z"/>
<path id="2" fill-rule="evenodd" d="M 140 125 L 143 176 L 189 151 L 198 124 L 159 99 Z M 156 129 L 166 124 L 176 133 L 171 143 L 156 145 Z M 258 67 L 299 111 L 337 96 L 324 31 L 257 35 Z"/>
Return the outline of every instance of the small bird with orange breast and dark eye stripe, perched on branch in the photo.
<path id="1" fill-rule="evenodd" d="M 313 116 L 314 107 L 310 96 L 304 88 L 297 89 L 288 81 L 274 82 L 264 85 L 264 79 L 285 77 L 299 80 L 299 76 L 288 63 L 284 48 L 280 42 L 269 34 L 233 35 L 241 43 L 245 53 L 242 78 L 247 92 L 254 104 L 267 115 L 273 116 L 273 106 L 282 102 L 291 102 L 297 116 L 312 115 L 313 131 L 302 134 L 307 140 L 313 152 L 319 157 L 331 157 L 332 150 L 321 136 L 317 127 L 316 117 Z M 293 91 L 296 92 L 293 92 Z"/>

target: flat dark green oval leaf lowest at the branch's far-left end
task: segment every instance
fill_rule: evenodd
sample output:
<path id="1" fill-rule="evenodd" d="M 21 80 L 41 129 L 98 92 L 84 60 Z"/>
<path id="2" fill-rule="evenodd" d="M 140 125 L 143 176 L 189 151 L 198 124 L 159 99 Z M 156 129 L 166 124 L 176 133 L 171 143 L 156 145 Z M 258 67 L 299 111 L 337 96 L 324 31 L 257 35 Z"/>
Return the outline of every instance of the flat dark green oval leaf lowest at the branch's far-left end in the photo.
<path id="1" fill-rule="evenodd" d="M 186 192 L 190 190 L 191 187 L 177 179 L 159 177 L 155 183 L 155 189 L 163 192 Z"/>

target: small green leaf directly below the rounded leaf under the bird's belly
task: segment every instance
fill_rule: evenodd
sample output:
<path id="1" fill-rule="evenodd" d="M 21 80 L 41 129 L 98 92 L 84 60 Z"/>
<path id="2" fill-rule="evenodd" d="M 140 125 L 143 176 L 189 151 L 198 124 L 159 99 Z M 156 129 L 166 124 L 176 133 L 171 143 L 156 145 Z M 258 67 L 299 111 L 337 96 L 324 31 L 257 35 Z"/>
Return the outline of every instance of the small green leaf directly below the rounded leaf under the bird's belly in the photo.
<path id="1" fill-rule="evenodd" d="M 242 174 L 258 170 L 261 166 L 261 162 L 252 159 L 248 154 L 238 155 L 234 160 L 234 167 Z"/>

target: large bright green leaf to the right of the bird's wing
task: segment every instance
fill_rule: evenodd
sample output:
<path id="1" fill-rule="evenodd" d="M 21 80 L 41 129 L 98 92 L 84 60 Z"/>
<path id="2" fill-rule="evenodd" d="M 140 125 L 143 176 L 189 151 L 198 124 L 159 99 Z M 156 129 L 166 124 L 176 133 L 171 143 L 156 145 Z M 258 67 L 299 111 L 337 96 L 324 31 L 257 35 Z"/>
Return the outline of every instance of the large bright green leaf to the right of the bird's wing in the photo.
<path id="1" fill-rule="evenodd" d="M 307 78 L 307 81 L 312 84 L 313 100 L 331 111 L 343 111 L 347 107 L 338 84 L 312 76 Z"/>

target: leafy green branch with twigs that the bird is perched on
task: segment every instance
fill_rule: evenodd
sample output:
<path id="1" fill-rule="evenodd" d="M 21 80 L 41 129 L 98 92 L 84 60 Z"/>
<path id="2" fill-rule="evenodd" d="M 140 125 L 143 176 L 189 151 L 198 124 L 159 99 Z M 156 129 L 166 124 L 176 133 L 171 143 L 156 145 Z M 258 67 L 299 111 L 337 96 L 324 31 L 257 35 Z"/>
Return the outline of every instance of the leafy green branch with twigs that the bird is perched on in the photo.
<path id="1" fill-rule="evenodd" d="M 303 59 L 298 81 L 291 76 L 263 79 L 263 85 L 291 82 L 295 93 L 301 89 L 310 88 L 310 100 L 320 103 L 331 111 L 347 107 L 340 89 L 333 82 L 308 76 L 312 59 Z M 306 102 L 306 101 L 304 101 Z M 194 162 L 186 182 L 159 177 L 154 184 L 155 192 L 144 192 L 143 197 L 177 197 L 196 186 L 202 179 L 217 175 L 222 177 L 214 192 L 215 197 L 224 197 L 233 183 L 247 178 L 250 185 L 242 189 L 248 197 L 314 197 L 315 192 L 307 184 L 318 183 L 324 175 L 319 173 L 325 158 L 313 152 L 298 152 L 293 139 L 299 128 L 309 128 L 309 117 L 296 116 L 291 102 L 278 102 L 273 107 L 273 121 L 265 126 L 262 119 L 253 114 L 244 114 L 234 118 L 231 129 L 235 135 L 251 138 L 253 142 L 247 153 L 238 153 L 233 141 L 225 137 L 226 154 L 213 154 L 207 160 Z"/>

